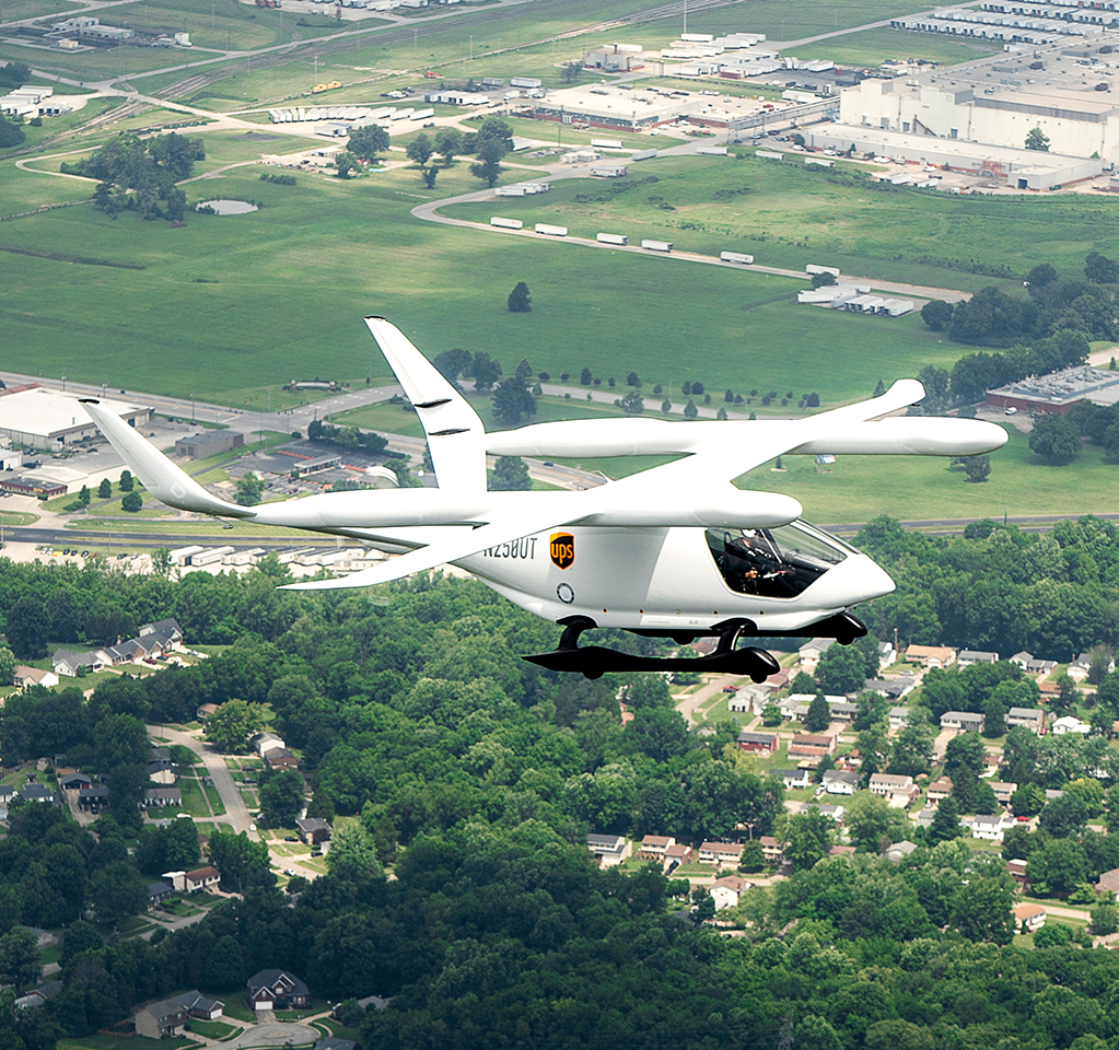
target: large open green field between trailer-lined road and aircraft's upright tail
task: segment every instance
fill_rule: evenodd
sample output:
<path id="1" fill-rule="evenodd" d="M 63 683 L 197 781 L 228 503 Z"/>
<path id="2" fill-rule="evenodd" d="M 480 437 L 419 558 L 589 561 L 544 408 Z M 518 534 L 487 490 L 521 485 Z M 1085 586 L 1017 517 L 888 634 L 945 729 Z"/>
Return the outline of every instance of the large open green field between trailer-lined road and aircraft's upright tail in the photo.
<path id="1" fill-rule="evenodd" d="M 674 186 L 684 194 L 686 179 Z M 440 175 L 440 195 L 474 188 L 464 163 Z M 384 374 L 364 312 L 383 312 L 429 354 L 486 350 L 508 369 L 527 355 L 534 371 L 553 375 L 585 365 L 603 378 L 636 369 L 650 387 L 679 390 L 690 378 L 713 391 L 775 384 L 798 393 L 811 375 L 827 379 L 812 384 L 825 401 L 962 351 L 916 317 L 798 309 L 788 299 L 799 282 L 786 278 L 421 223 L 408 210 L 433 193 L 407 170 L 286 187 L 234 169 L 188 186 L 190 200 L 215 191 L 265 207 L 191 217 L 178 229 L 92 206 L 0 226 L 0 249 L 79 243 L 104 263 L 20 260 L 0 308 L 27 369 L 264 407 L 263 375 Z M 801 266 L 815 257 L 799 255 Z M 506 298 L 521 279 L 533 312 L 509 313 Z M 65 296 L 44 297 L 44 287 Z"/>

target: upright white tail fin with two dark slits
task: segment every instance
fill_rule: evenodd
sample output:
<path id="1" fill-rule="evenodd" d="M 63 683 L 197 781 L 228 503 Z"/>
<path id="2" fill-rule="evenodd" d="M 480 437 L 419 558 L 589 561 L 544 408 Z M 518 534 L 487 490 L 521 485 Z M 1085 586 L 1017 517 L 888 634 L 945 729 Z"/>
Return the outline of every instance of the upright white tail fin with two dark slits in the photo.
<path id="1" fill-rule="evenodd" d="M 439 487 L 486 491 L 486 430 L 478 413 L 395 325 L 383 317 L 365 322 L 423 423 Z"/>

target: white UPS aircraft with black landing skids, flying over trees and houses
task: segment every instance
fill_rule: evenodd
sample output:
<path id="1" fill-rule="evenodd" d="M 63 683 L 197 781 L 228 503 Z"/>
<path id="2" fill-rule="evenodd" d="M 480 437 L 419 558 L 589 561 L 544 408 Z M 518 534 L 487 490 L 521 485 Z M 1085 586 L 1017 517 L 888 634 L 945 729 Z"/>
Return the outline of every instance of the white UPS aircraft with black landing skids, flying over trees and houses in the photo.
<path id="1" fill-rule="evenodd" d="M 369 587 L 454 564 L 564 628 L 555 671 L 670 667 L 676 660 L 580 647 L 589 628 L 677 643 L 717 636 L 716 651 L 680 660 L 761 682 L 778 664 L 741 638 L 819 635 L 849 644 L 866 628 L 848 611 L 894 590 L 865 554 L 801 519 L 789 496 L 736 488 L 777 456 L 974 456 L 1006 432 L 977 420 L 893 416 L 924 397 L 900 379 L 878 397 L 800 420 L 665 422 L 641 418 L 538 423 L 486 433 L 477 413 L 384 318 L 366 325 L 412 401 L 438 488 L 325 493 L 243 507 L 206 491 L 120 416 L 83 404 L 157 499 L 234 522 L 305 528 L 403 553 L 338 580 L 292 590 Z M 486 456 L 680 456 L 584 491 L 490 493 Z"/>

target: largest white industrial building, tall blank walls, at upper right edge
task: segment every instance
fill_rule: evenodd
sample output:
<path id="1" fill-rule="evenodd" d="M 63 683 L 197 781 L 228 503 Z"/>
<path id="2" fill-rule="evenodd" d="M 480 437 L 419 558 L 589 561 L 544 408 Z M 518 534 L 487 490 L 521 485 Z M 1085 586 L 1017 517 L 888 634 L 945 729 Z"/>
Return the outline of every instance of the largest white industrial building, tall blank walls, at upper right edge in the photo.
<path id="1" fill-rule="evenodd" d="M 1119 101 L 1112 96 L 1119 34 L 1084 26 L 1078 31 L 1089 30 L 1091 39 L 1007 45 L 1007 53 L 975 63 L 863 81 L 844 90 L 840 121 L 1009 149 L 1023 149 L 1036 130 L 1053 153 L 1113 162 L 1119 159 Z"/>

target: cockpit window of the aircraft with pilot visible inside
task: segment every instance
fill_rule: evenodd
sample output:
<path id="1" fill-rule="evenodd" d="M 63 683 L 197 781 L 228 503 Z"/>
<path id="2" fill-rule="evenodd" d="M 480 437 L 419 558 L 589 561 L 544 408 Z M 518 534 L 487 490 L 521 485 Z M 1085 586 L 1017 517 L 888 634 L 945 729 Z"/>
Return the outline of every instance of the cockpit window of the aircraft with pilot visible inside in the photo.
<path id="1" fill-rule="evenodd" d="M 740 594 L 796 598 L 854 552 L 803 522 L 779 528 L 708 528 L 707 546 Z"/>

